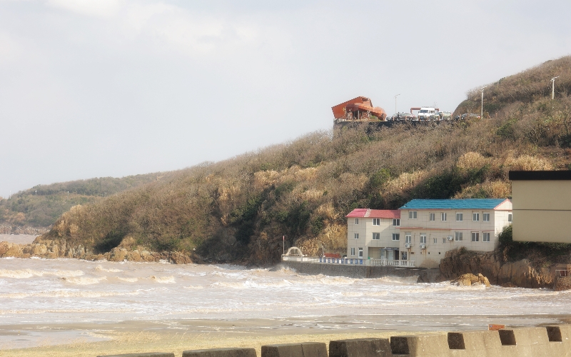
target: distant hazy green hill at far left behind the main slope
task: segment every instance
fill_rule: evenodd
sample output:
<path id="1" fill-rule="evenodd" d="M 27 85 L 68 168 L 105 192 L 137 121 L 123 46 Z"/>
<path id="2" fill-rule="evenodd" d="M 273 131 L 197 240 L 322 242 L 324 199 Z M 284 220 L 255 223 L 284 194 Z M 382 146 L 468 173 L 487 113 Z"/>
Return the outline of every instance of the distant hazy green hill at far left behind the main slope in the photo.
<path id="1" fill-rule="evenodd" d="M 101 177 L 50 185 L 34 186 L 14 193 L 10 199 L 0 198 L 0 226 L 10 233 L 16 227 L 47 228 L 69 208 L 94 203 L 99 199 L 156 181 L 166 173 Z"/>

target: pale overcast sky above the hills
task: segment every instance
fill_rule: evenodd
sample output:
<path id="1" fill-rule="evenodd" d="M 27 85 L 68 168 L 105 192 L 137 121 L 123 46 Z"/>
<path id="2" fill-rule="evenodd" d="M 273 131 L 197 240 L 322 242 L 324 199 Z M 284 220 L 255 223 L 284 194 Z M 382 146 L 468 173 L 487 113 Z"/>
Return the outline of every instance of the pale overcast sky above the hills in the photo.
<path id="1" fill-rule="evenodd" d="M 571 53 L 571 1 L 0 0 L 0 196 L 170 171 Z M 546 79 L 549 83 L 550 79 Z"/>

